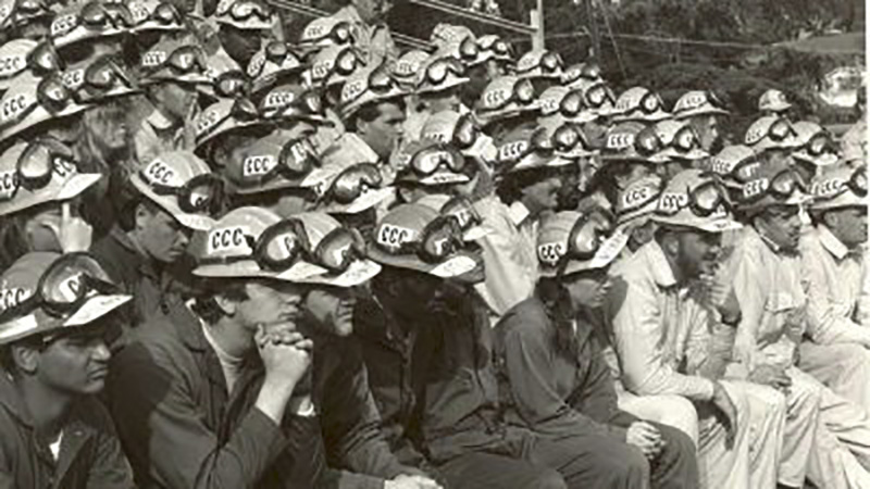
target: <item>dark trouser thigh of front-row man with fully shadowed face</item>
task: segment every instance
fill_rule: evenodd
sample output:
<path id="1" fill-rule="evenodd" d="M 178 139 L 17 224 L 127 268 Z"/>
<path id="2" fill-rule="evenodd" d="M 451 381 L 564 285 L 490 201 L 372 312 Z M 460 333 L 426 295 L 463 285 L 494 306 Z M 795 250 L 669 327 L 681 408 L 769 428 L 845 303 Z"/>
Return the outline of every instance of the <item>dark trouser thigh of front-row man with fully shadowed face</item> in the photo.
<path id="1" fill-rule="evenodd" d="M 437 468 L 449 489 L 568 489 L 558 472 L 506 455 L 468 453 Z"/>

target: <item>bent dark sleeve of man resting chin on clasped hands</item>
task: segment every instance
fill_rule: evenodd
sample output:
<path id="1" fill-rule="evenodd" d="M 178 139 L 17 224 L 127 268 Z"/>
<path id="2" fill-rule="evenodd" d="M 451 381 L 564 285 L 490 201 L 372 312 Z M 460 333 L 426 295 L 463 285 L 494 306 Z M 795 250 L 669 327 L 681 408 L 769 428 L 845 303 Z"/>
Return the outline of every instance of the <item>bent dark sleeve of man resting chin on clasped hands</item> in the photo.
<path id="1" fill-rule="evenodd" d="M 254 408 L 219 446 L 173 368 L 178 367 L 160 348 L 140 343 L 112 364 L 114 419 L 136 469 L 163 487 L 254 486 L 287 448 L 279 427 Z"/>

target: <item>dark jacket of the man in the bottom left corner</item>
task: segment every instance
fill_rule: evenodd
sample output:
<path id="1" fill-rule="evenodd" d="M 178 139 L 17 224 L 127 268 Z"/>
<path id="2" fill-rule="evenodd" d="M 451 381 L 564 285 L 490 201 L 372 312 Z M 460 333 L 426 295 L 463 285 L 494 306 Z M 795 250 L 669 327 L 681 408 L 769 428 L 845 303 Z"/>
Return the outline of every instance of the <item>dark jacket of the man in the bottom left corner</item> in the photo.
<path id="1" fill-rule="evenodd" d="M 133 472 L 99 401 L 75 401 L 58 461 L 40 440 L 12 380 L 0 371 L 0 488 L 132 488 Z"/>

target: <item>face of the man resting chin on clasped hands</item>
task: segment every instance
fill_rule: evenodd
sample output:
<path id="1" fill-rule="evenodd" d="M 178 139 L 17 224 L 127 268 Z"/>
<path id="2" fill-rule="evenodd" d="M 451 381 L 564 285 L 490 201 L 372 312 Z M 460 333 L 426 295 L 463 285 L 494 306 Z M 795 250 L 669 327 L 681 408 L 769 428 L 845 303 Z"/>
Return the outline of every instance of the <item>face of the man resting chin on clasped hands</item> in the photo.
<path id="1" fill-rule="evenodd" d="M 281 280 L 256 280 L 245 285 L 248 298 L 238 302 L 238 322 L 251 331 L 258 325 L 297 324 L 301 318 L 303 289 Z"/>

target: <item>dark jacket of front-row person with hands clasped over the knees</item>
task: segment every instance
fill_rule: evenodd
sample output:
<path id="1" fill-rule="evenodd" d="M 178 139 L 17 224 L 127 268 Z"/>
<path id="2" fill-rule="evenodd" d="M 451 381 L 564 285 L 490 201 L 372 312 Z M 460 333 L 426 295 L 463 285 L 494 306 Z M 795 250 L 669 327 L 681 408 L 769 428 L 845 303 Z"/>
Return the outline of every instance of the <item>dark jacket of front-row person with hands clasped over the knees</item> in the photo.
<path id="1" fill-rule="evenodd" d="M 600 432 L 625 441 L 638 419 L 617 406 L 593 327 L 576 322 L 575 354 L 557 348 L 555 328 L 538 298 L 514 305 L 496 326 L 506 421 L 554 439 Z"/>

